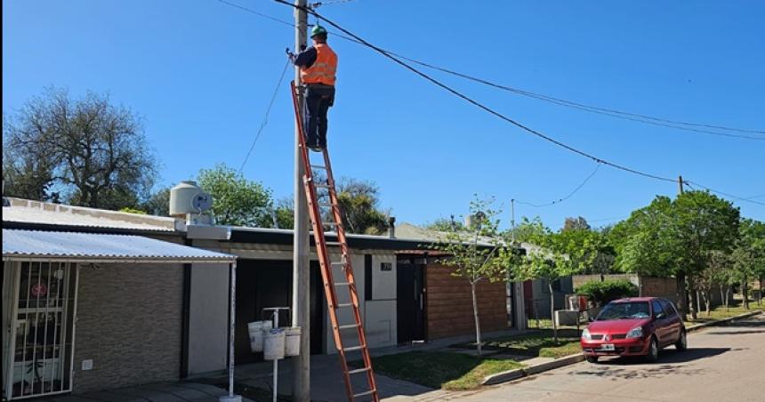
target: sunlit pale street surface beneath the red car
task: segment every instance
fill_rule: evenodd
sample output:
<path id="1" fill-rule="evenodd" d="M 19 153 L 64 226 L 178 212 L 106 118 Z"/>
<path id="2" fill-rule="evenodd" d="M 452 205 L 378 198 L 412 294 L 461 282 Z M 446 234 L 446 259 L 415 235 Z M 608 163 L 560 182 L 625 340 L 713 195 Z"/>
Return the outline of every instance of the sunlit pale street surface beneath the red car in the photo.
<path id="1" fill-rule="evenodd" d="M 437 391 L 415 400 L 765 401 L 765 315 L 690 334 L 688 347 L 663 350 L 655 364 L 582 362 L 479 392 Z"/>

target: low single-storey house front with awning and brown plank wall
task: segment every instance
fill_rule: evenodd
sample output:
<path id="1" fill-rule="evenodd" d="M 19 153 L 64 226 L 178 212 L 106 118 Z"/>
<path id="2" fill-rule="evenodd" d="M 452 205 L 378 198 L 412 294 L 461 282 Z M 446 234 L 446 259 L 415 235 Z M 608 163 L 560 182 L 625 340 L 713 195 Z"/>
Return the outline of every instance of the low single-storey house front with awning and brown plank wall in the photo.
<path id="1" fill-rule="evenodd" d="M 226 369 L 233 261 L 237 364 L 262 360 L 250 350 L 247 323 L 270 318 L 265 308 L 291 305 L 292 230 L 6 201 L 3 229 L 17 238 L 27 233 L 44 251 L 36 260 L 12 255 L 4 236 L 3 321 L 11 330 L 3 337 L 3 393 L 9 399 L 172 382 Z M 332 234 L 327 239 L 334 240 Z M 68 249 L 57 248 L 64 243 Z M 470 285 L 423 253 L 427 241 L 349 235 L 348 244 L 370 348 L 474 333 Z M 141 254 L 146 247 L 154 251 Z M 313 247 L 310 260 L 310 352 L 331 354 Z M 479 285 L 484 331 L 511 326 L 509 311 L 522 311 L 516 305 L 522 298 L 509 297 L 505 288 Z M 290 322 L 289 312 L 282 314 L 280 322 Z"/>

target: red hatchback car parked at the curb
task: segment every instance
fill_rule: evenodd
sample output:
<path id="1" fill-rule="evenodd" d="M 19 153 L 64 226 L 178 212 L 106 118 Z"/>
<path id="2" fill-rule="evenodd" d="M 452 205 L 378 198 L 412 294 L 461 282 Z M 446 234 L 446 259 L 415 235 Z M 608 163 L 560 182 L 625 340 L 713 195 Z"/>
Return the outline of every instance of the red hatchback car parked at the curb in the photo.
<path id="1" fill-rule="evenodd" d="M 580 342 L 590 363 L 600 356 L 644 356 L 653 362 L 664 347 L 688 347 L 680 314 L 672 301 L 658 297 L 609 302 L 584 328 Z"/>

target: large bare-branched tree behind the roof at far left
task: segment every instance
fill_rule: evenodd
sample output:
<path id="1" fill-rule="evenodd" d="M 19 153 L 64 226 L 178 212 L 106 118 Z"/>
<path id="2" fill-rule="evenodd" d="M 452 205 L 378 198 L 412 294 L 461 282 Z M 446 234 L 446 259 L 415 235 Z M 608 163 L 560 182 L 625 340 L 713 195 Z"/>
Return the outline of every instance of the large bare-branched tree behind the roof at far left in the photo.
<path id="1" fill-rule="evenodd" d="M 107 94 L 72 99 L 65 89 L 47 88 L 4 122 L 3 137 L 9 167 L 19 173 L 10 179 L 39 179 L 26 183 L 35 189 L 25 197 L 60 189 L 71 204 L 119 209 L 145 199 L 157 176 L 139 117 Z"/>

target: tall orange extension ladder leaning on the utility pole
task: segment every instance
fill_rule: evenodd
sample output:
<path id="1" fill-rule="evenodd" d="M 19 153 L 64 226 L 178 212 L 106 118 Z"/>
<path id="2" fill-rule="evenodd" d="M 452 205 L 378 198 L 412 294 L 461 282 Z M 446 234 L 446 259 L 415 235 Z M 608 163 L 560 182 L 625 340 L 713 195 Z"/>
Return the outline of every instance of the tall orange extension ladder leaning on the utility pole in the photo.
<path id="1" fill-rule="evenodd" d="M 302 182 L 308 200 L 310 224 L 313 229 L 313 237 L 316 243 L 318 262 L 321 268 L 321 278 L 324 281 L 326 307 L 329 312 L 329 320 L 332 323 L 334 346 L 337 348 L 337 354 L 340 356 L 340 365 L 342 366 L 342 374 L 345 379 L 345 390 L 348 394 L 348 400 L 351 402 L 362 397 L 369 397 L 377 402 L 380 400 L 380 395 L 377 392 L 377 384 L 374 382 L 372 359 L 369 356 L 369 349 L 366 345 L 364 326 L 361 324 L 361 311 L 358 308 L 356 278 L 353 276 L 353 268 L 350 266 L 350 250 L 345 237 L 345 229 L 342 227 L 342 213 L 340 212 L 340 206 L 337 203 L 337 193 L 334 189 L 332 166 L 329 164 L 329 153 L 326 148 L 322 151 L 324 154 L 324 165 L 311 165 L 309 149 L 306 147 L 305 135 L 303 133 L 303 115 L 298 97 L 298 88 L 295 86 L 294 81 L 290 86 L 292 88 L 294 115 L 300 132 L 298 135 L 300 137 L 300 152 L 303 165 L 305 166 Z M 314 169 L 324 170 L 326 172 L 326 182 L 320 183 L 314 180 Z M 327 197 L 324 197 L 326 202 L 319 201 L 317 189 L 326 189 Z M 322 214 L 322 208 L 326 208 L 326 214 Z M 323 216 L 328 218 L 329 221 L 323 221 Z M 326 241 L 325 227 L 334 228 L 334 232 L 337 236 L 336 242 Z M 340 261 L 332 261 L 330 259 L 327 247 L 339 247 L 341 255 Z M 333 267 L 338 267 L 342 270 L 342 276 L 344 276 L 342 282 L 334 282 Z M 339 303 L 337 301 L 337 288 L 339 287 L 348 288 L 350 302 Z M 353 322 L 347 324 L 340 323 L 338 315 L 341 314 L 343 310 L 349 309 L 352 313 Z M 353 330 L 352 333 L 355 334 L 353 338 L 358 339 L 358 341 L 355 342 L 356 344 L 353 346 L 345 346 L 345 342 L 342 340 L 342 333 L 350 334 L 350 330 Z M 350 370 L 348 366 L 348 355 L 346 353 L 356 350 L 361 352 L 364 366 Z M 366 390 L 354 393 L 351 376 L 355 374 L 364 374 L 366 376 Z"/>

